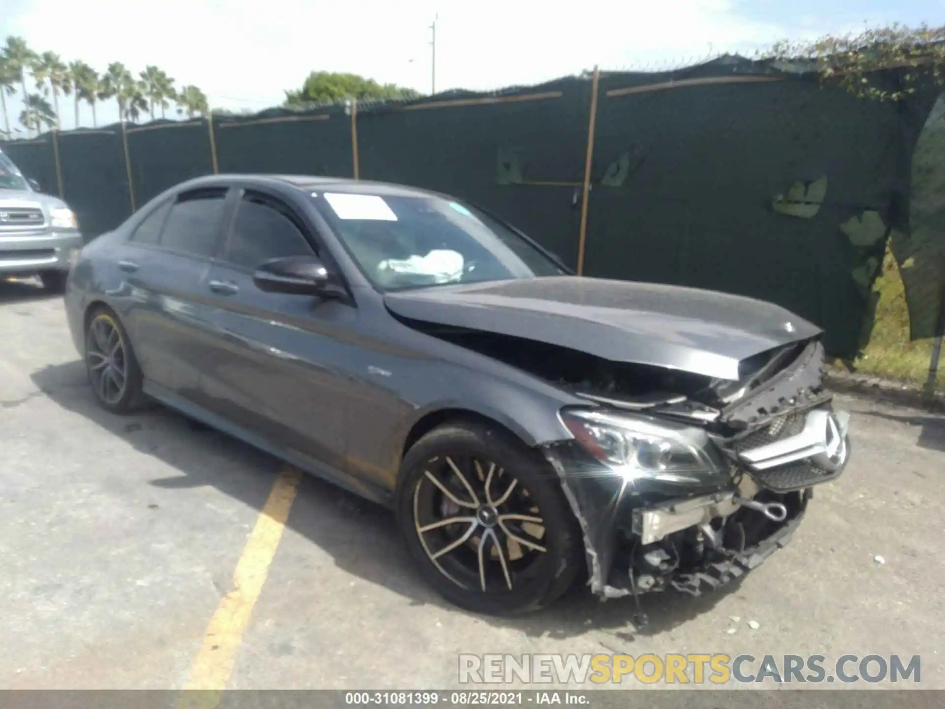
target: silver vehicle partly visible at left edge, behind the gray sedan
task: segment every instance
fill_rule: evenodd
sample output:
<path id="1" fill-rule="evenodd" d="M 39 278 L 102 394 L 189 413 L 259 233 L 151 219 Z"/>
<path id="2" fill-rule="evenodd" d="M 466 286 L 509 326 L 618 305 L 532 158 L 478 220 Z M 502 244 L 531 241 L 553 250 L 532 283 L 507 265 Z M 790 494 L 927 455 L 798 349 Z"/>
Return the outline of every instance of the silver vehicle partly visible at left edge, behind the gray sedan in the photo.
<path id="1" fill-rule="evenodd" d="M 38 275 L 46 290 L 61 293 L 81 248 L 75 213 L 0 150 L 0 279 Z"/>

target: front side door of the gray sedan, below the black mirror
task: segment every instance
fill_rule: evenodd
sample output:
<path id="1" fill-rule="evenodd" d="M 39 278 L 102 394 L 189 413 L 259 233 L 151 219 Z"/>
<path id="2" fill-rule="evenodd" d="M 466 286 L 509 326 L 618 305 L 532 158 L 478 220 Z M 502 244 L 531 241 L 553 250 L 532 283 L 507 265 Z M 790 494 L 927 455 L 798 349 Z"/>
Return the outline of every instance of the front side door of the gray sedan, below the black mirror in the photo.
<path id="1" fill-rule="evenodd" d="M 317 250 L 314 231 L 283 201 L 243 191 L 222 257 L 203 284 L 215 355 L 200 389 L 204 406 L 245 433 L 341 471 L 352 382 L 343 373 L 348 348 L 337 335 L 356 310 L 268 293 L 252 280 L 269 259 Z"/>

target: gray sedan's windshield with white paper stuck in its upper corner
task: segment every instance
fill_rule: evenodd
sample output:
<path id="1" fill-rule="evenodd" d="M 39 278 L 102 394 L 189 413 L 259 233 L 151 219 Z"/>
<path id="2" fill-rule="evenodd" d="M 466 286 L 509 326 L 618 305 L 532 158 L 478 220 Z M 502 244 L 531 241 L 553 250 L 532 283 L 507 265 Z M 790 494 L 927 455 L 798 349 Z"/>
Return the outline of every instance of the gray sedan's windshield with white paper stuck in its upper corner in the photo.
<path id="1" fill-rule="evenodd" d="M 385 290 L 564 273 L 518 233 L 437 197 L 314 193 L 318 210 Z"/>

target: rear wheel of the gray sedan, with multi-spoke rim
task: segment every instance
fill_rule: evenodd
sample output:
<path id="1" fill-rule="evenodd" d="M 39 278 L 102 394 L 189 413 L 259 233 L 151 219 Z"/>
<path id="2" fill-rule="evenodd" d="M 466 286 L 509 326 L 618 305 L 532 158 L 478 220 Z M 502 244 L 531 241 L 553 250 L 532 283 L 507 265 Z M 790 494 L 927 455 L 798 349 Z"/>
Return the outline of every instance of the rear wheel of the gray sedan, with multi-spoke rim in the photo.
<path id="1" fill-rule="evenodd" d="M 97 308 L 87 319 L 85 369 L 95 399 L 103 408 L 124 414 L 144 403 L 141 368 L 128 333 L 109 308 Z"/>

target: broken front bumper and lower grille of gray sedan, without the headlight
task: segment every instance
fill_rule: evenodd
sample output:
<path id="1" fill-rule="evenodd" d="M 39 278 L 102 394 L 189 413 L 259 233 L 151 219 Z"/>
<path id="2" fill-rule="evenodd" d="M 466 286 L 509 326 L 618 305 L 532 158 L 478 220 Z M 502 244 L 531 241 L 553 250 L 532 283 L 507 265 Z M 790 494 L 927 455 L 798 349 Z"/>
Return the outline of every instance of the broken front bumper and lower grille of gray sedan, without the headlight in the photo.
<path id="1" fill-rule="evenodd" d="M 583 532 L 593 593 L 697 596 L 744 576 L 790 541 L 812 487 L 843 472 L 849 422 L 817 397 L 713 439 L 730 464 L 724 484 L 707 478 L 713 489 L 627 482 L 575 441 L 545 447 Z"/>

